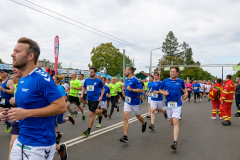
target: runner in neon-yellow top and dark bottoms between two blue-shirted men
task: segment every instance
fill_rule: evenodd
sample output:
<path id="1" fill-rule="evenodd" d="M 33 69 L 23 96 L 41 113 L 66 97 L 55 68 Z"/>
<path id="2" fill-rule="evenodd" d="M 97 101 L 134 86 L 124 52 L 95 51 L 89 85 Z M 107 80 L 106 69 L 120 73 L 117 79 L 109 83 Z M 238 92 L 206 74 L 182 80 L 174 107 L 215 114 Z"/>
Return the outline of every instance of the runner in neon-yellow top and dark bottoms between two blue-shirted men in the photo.
<path id="1" fill-rule="evenodd" d="M 119 92 L 119 86 L 118 84 L 116 84 L 116 78 L 113 77 L 112 78 L 112 83 L 110 83 L 108 85 L 108 87 L 110 88 L 110 93 L 111 93 L 111 112 L 110 114 L 108 114 L 108 117 L 111 118 L 114 108 L 117 108 L 117 112 L 119 112 L 119 106 L 117 106 L 118 104 L 118 92 Z"/>

